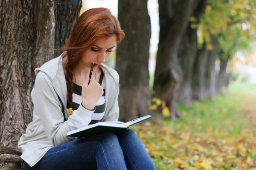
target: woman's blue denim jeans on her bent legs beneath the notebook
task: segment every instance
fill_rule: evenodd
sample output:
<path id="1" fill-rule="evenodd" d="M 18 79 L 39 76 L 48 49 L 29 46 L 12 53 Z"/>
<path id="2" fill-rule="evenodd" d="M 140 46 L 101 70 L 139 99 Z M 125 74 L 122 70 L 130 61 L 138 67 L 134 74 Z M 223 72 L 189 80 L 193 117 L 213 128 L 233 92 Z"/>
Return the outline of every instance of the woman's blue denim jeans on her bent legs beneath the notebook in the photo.
<path id="1" fill-rule="evenodd" d="M 35 166 L 24 170 L 156 170 L 132 130 L 101 133 L 53 147 Z"/>

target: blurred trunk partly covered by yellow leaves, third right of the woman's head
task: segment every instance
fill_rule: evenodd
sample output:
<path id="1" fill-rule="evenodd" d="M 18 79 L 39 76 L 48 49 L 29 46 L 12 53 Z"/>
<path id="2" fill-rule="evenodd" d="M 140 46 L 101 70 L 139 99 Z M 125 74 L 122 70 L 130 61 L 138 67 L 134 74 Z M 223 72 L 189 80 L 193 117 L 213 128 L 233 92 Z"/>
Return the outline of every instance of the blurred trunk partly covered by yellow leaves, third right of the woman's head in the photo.
<path id="1" fill-rule="evenodd" d="M 204 13 L 206 4 L 206 0 L 201 0 L 194 11 L 193 17 L 198 19 L 198 17 Z M 191 23 L 189 23 L 186 31 L 183 34 L 183 39 L 180 42 L 178 51 L 178 59 L 181 66 L 181 72 L 177 102 L 180 104 L 185 104 L 186 106 L 191 106 L 192 101 L 191 84 L 197 49 L 197 29 L 192 29 Z"/>

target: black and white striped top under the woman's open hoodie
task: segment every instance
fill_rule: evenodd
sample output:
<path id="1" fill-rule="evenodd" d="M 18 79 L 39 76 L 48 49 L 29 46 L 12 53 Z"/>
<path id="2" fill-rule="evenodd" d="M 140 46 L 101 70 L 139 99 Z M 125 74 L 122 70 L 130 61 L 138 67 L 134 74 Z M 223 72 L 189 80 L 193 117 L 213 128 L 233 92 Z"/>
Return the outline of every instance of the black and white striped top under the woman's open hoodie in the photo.
<path id="1" fill-rule="evenodd" d="M 66 77 L 66 80 L 67 80 L 67 77 Z M 103 116 L 105 114 L 105 78 L 104 78 L 103 72 L 101 72 L 101 74 L 100 74 L 99 84 L 102 86 L 104 93 L 99 98 L 99 101 L 96 103 L 95 112 L 91 116 L 92 120 L 89 123 L 89 125 L 100 122 L 100 120 L 103 118 Z M 72 102 L 73 111 L 77 110 L 79 108 L 79 105 L 83 101 L 81 94 L 82 94 L 82 87 L 74 83 L 73 84 L 73 94 L 72 94 L 72 96 L 73 96 L 73 102 Z M 67 108 L 69 108 L 68 104 L 67 104 Z"/>

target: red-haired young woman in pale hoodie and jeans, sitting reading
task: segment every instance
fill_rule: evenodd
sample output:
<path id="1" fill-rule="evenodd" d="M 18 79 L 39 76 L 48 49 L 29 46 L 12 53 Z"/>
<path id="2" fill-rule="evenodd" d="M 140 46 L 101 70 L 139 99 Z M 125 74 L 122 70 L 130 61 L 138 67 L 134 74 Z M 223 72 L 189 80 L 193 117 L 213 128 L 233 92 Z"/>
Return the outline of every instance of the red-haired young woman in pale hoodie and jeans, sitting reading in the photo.
<path id="1" fill-rule="evenodd" d="M 124 37 L 111 11 L 89 9 L 76 20 L 65 52 L 35 69 L 33 121 L 18 143 L 24 170 L 156 169 L 132 130 L 81 139 L 66 136 L 118 119 L 119 75 L 103 63 Z"/>

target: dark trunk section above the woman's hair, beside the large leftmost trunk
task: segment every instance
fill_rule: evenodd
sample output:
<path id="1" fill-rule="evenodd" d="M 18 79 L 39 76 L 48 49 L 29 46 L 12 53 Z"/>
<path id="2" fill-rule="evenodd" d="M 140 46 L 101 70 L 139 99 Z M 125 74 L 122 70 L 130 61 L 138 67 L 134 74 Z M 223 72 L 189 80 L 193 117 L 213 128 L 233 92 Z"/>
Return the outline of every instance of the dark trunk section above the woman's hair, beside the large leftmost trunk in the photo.
<path id="1" fill-rule="evenodd" d="M 55 51 L 54 57 L 58 57 L 70 35 L 74 21 L 79 17 L 82 0 L 55 0 Z"/>

